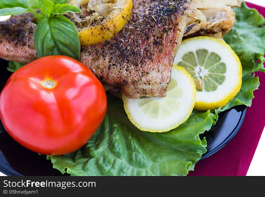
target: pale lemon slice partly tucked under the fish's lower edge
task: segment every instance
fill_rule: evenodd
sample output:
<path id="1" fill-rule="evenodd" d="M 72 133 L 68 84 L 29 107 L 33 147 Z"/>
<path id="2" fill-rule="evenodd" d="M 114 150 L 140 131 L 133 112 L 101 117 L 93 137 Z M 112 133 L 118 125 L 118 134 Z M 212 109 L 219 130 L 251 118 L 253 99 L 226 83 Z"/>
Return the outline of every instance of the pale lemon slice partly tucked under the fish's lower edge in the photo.
<path id="1" fill-rule="evenodd" d="M 196 100 L 195 84 L 187 71 L 173 65 L 171 82 L 164 98 L 129 99 L 124 94 L 124 109 L 130 121 L 140 130 L 166 132 L 185 122 Z"/>

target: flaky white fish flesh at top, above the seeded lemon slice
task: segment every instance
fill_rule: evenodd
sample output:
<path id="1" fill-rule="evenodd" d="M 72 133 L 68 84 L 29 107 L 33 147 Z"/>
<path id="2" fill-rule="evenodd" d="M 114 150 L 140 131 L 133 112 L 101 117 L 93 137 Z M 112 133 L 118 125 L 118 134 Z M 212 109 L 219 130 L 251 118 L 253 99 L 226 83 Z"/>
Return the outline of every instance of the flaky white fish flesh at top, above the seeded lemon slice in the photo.
<path id="1" fill-rule="evenodd" d="M 187 10 L 185 37 L 211 36 L 223 38 L 235 24 L 232 7 L 240 6 L 241 0 L 197 0 Z"/>

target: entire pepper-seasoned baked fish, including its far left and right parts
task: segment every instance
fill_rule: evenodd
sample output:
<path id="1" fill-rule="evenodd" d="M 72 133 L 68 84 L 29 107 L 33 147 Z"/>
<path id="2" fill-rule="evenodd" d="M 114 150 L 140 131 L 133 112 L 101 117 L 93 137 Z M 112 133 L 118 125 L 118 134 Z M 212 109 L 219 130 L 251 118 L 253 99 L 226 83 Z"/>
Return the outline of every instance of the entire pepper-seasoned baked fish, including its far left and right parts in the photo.
<path id="1" fill-rule="evenodd" d="M 129 98 L 165 97 L 174 55 L 184 37 L 223 37 L 235 23 L 223 0 L 134 0 L 130 21 L 112 40 L 83 46 L 81 62 Z M 71 18 L 72 15 L 68 17 Z M 37 58 L 32 15 L 0 22 L 0 58 L 28 63 Z"/>

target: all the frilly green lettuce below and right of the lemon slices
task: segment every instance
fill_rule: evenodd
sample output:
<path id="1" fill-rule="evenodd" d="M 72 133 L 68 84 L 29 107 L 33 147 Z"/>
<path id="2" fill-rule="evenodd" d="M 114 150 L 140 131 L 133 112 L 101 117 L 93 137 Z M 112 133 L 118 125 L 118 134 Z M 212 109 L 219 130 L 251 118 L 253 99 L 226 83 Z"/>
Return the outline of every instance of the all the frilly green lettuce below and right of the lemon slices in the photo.
<path id="1" fill-rule="evenodd" d="M 63 156 L 47 156 L 53 167 L 70 175 L 187 175 L 206 152 L 206 140 L 199 134 L 210 130 L 218 113 L 237 105 L 251 106 L 258 77 L 265 71 L 265 20 L 245 3 L 234 9 L 237 22 L 224 40 L 242 62 L 240 92 L 225 107 L 215 112 L 193 111 L 178 128 L 166 133 L 137 129 L 127 118 L 121 100 L 108 95 L 107 115 L 90 141 L 80 150 Z"/>

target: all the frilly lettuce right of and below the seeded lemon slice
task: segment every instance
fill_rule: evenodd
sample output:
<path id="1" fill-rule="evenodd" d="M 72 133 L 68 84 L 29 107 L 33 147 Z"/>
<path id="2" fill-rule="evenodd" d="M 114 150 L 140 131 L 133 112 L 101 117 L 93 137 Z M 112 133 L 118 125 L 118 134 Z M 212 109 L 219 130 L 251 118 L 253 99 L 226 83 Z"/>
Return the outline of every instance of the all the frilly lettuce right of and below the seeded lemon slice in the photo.
<path id="1" fill-rule="evenodd" d="M 242 64 L 242 87 L 240 92 L 225 107 L 216 110 L 223 112 L 237 105 L 251 106 L 254 98 L 253 91 L 257 90 L 260 82 L 255 74 L 265 72 L 265 19 L 257 10 L 247 7 L 245 2 L 241 7 L 234 8 L 236 23 L 232 30 L 225 35 L 224 40 L 239 56 Z"/>

